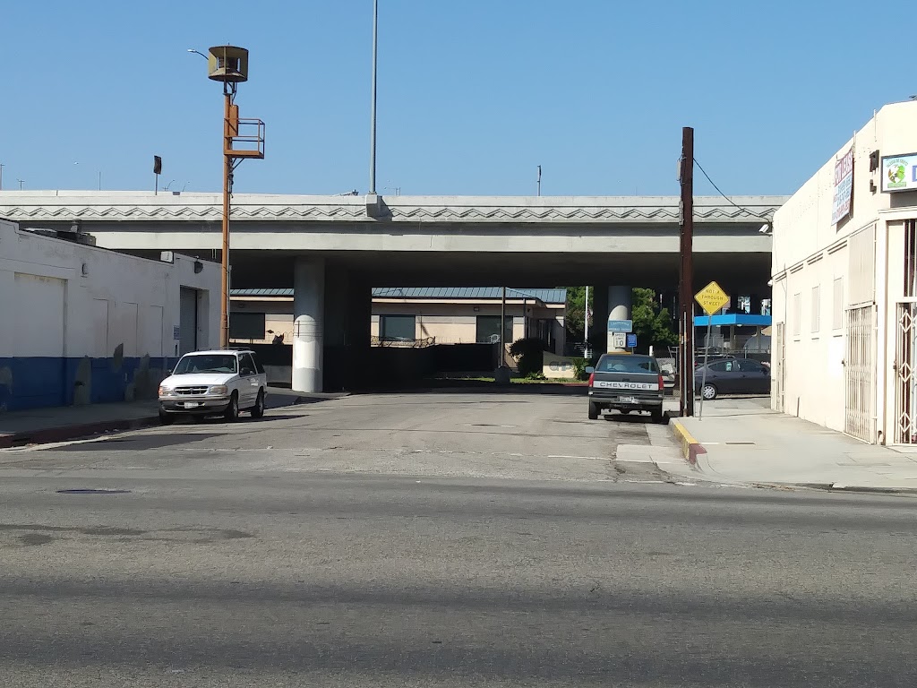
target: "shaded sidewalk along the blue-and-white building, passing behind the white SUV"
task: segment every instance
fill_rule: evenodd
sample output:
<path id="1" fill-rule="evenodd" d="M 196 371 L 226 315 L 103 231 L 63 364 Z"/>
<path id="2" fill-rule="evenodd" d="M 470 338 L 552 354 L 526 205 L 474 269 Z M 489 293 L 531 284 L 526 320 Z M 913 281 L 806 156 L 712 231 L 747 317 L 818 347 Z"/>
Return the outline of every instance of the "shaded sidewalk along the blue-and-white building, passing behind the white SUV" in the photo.
<path id="1" fill-rule="evenodd" d="M 269 387 L 268 409 L 335 399 L 345 394 L 302 394 Z M 84 438 L 111 430 L 159 425 L 159 402 L 53 406 L 0 414 L 0 449 Z"/>

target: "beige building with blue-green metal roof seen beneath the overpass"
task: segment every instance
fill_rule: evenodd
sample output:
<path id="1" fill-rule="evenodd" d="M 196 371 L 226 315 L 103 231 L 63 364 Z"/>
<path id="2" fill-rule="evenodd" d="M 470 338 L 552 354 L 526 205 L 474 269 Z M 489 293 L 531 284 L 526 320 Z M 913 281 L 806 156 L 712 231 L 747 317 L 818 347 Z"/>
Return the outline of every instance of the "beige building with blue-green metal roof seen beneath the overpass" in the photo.
<path id="1" fill-rule="evenodd" d="M 246 344 L 293 341 L 292 289 L 237 289 L 232 293 L 231 338 Z M 423 346 L 500 341 L 500 287 L 385 287 L 372 290 L 373 344 Z M 567 291 L 506 289 L 505 341 L 539 338 L 563 353 Z"/>

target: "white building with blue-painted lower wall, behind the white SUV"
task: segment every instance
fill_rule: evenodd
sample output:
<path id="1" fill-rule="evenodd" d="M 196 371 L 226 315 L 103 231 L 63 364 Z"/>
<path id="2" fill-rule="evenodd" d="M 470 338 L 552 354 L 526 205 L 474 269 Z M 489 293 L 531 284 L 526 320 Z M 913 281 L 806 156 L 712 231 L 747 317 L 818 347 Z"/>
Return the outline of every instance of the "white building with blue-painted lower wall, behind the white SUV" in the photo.
<path id="1" fill-rule="evenodd" d="M 47 234 L 0 220 L 0 412 L 155 398 L 180 354 L 218 342 L 218 264 Z"/>

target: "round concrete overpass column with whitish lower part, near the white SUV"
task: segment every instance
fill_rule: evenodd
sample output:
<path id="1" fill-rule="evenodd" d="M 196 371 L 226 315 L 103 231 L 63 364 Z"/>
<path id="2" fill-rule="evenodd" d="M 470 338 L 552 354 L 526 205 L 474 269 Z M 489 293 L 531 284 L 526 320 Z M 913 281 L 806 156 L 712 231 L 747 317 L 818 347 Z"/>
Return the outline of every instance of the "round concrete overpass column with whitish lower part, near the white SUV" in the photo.
<path id="1" fill-rule="evenodd" d="M 297 258 L 293 267 L 293 390 L 322 391 L 325 261 Z"/>

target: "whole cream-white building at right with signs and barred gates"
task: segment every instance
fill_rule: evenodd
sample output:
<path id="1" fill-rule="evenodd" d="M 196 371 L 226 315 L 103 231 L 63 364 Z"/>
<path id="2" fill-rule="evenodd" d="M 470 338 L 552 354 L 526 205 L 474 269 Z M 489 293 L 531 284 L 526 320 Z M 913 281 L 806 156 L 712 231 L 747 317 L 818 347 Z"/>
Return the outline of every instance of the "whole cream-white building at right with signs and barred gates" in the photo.
<path id="1" fill-rule="evenodd" d="M 915 151 L 886 105 L 774 217 L 772 405 L 879 444 L 917 442 Z"/>

